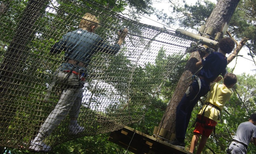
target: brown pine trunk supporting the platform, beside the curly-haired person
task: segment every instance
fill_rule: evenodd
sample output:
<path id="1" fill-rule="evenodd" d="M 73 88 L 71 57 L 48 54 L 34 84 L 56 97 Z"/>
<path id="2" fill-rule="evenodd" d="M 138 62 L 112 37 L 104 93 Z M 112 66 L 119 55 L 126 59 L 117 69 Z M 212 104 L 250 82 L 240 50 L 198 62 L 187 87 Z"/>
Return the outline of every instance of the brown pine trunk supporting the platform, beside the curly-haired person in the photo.
<path id="1" fill-rule="evenodd" d="M 206 34 L 208 28 L 213 28 L 215 31 L 212 33 L 212 37 L 215 37 L 217 32 L 222 33 L 222 29 L 225 23 L 229 22 L 236 6 L 238 5 L 239 0 L 219 0 L 212 11 L 209 19 L 206 23 L 206 28 L 204 33 Z M 211 34 L 210 34 L 211 35 Z M 190 83 L 184 83 L 184 79 L 189 78 L 194 74 L 198 68 L 195 67 L 195 63 L 199 61 L 200 55 L 198 52 L 191 54 L 189 61 L 186 64 L 185 71 L 179 79 L 178 85 L 174 91 L 173 97 L 170 100 L 167 109 L 164 113 L 164 116 L 159 124 L 157 135 L 161 128 L 167 130 L 167 133 L 162 136 L 163 138 L 170 139 L 172 134 L 175 133 L 175 123 L 176 123 L 176 107 L 179 104 L 179 101 L 182 99 L 184 93 L 186 92 Z M 173 136 L 174 137 L 174 136 Z M 172 137 L 172 138 L 173 138 Z"/>

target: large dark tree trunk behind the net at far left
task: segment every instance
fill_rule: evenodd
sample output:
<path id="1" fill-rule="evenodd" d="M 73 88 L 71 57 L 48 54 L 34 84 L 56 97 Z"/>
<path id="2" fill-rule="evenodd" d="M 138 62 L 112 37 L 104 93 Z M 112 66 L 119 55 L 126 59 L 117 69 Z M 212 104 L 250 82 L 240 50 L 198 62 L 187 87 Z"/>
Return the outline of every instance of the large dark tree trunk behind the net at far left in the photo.
<path id="1" fill-rule="evenodd" d="M 44 13 L 47 0 L 30 0 L 24 9 L 24 14 L 14 31 L 12 39 L 0 66 L 0 126 L 6 128 L 15 115 L 16 100 L 13 96 L 19 95 L 17 87 L 21 74 L 25 68 L 30 48 L 27 44 L 35 36 L 35 23 Z"/>

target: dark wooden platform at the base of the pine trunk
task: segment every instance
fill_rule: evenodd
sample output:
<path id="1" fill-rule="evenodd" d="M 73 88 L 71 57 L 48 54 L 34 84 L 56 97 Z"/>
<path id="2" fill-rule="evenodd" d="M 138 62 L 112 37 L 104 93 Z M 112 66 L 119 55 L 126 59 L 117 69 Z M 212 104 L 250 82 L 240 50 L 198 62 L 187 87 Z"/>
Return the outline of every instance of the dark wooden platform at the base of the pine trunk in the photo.
<path id="1" fill-rule="evenodd" d="M 191 154 L 127 126 L 111 132 L 108 140 L 135 154 Z"/>

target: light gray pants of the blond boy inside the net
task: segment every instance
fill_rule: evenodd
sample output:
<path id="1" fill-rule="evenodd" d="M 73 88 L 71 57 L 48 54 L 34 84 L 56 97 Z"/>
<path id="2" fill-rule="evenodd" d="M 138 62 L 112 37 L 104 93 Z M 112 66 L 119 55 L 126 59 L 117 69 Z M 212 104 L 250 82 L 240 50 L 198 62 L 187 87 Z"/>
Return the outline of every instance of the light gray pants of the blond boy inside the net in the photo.
<path id="1" fill-rule="evenodd" d="M 79 76 L 73 73 L 56 72 L 55 74 L 57 75 L 53 82 L 64 83 L 65 85 L 72 86 L 73 88 L 66 88 L 63 90 L 57 105 L 41 125 L 39 133 L 34 141 L 44 140 L 44 138 L 50 135 L 68 114 L 71 119 L 77 119 L 80 112 L 83 91 L 82 87 L 78 87 L 78 85 L 79 83 L 80 85 L 83 85 L 84 82 L 79 81 Z M 67 76 L 69 76 L 68 79 Z"/>

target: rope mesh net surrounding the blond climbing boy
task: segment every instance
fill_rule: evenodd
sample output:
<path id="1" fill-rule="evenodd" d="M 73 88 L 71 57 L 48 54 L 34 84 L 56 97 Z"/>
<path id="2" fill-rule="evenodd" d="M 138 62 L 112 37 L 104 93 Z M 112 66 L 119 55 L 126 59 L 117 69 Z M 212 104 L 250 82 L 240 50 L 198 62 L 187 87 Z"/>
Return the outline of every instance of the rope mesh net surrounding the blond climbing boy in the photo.
<path id="1" fill-rule="evenodd" d="M 95 33 L 112 46 L 119 29 L 126 26 L 129 32 L 117 54 L 95 52 L 91 57 L 77 119 L 84 131 L 74 135 L 69 133 L 70 120 L 77 114 L 72 108 L 60 109 L 68 113 L 59 112 L 64 118 L 58 124 L 46 120 L 67 87 L 55 84 L 49 99 L 44 98 L 54 72 L 67 62 L 68 51 L 49 51 L 64 34 L 79 28 L 87 12 L 100 21 Z M 45 122 L 56 124 L 51 133 L 41 133 L 51 146 L 138 122 L 193 41 L 132 21 L 92 1 L 1 1 L 0 22 L 0 146 L 13 148 L 28 148 Z"/>

